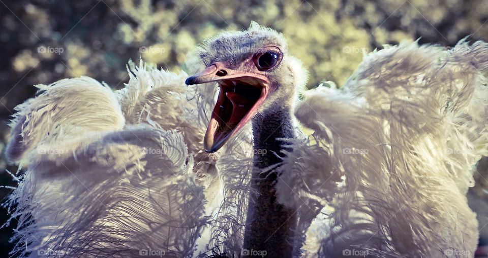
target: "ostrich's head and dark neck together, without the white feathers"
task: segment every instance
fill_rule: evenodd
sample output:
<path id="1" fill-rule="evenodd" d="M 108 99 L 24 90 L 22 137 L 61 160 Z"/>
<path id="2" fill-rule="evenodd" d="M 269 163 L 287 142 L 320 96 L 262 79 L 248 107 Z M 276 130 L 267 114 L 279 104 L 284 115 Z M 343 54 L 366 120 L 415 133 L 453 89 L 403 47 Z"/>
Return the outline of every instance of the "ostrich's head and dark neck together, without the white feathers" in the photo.
<path id="1" fill-rule="evenodd" d="M 220 88 L 205 133 L 205 151 L 216 152 L 252 120 L 253 150 L 262 154 L 254 155 L 244 248 L 266 251 L 269 257 L 291 257 L 295 211 L 277 200 L 276 170 L 263 169 L 282 162 L 280 139 L 295 138 L 295 88 L 304 87 L 306 71 L 287 55 L 282 36 L 266 29 L 209 40 L 201 58 L 208 66 L 186 84 L 218 82 Z"/>

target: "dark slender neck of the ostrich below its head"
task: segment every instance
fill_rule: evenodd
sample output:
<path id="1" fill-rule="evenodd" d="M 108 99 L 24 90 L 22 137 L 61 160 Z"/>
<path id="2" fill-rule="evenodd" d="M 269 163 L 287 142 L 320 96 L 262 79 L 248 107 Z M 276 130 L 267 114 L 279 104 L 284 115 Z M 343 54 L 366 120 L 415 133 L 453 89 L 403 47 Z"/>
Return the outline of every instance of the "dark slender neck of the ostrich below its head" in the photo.
<path id="1" fill-rule="evenodd" d="M 281 162 L 282 141 L 295 137 L 290 107 L 279 107 L 253 119 L 254 169 L 251 180 L 244 247 L 266 251 L 266 257 L 291 257 L 296 216 L 292 209 L 278 203 L 276 171 L 263 168 Z M 251 253 L 252 254 L 252 253 Z M 256 254 L 256 253 L 255 253 Z"/>

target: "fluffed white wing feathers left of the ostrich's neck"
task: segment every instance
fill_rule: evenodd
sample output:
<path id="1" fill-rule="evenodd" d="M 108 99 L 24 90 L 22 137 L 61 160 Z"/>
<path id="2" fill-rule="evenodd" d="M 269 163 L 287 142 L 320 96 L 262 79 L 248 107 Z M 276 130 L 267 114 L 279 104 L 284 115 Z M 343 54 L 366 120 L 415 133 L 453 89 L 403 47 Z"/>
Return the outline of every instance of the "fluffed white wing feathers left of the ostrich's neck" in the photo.
<path id="1" fill-rule="evenodd" d="M 141 71 L 130 83 L 146 83 L 143 76 L 150 72 L 158 75 L 154 70 Z M 151 78 L 159 79 L 169 91 L 180 86 L 170 81 L 172 77 L 159 73 Z M 121 110 L 132 121 L 135 115 L 129 116 L 127 110 L 137 112 L 138 98 L 120 98 L 125 99 L 120 109 L 109 89 L 92 82 L 86 78 L 60 81 L 19 106 L 18 117 L 28 119 L 15 120 L 14 132 L 22 123 L 21 128 L 31 133 L 11 142 L 12 148 L 26 145 L 22 155 L 28 161 L 23 180 L 10 196 L 12 219 L 19 220 L 12 253 L 125 257 L 152 249 L 175 257 L 191 256 L 206 218 L 203 188 L 196 185 L 193 157 L 188 155 L 184 137 L 151 126 L 156 124 L 150 120 L 161 114 L 147 115 L 146 125 L 123 128 Z M 162 99 L 167 92 L 161 92 Z M 150 93 L 142 98 L 148 101 Z M 168 106 L 177 99 L 168 99 Z M 127 108 L 131 105 L 132 109 Z M 40 109 L 45 110 L 44 116 L 36 117 Z M 53 134 L 55 141 L 50 140 Z"/>

